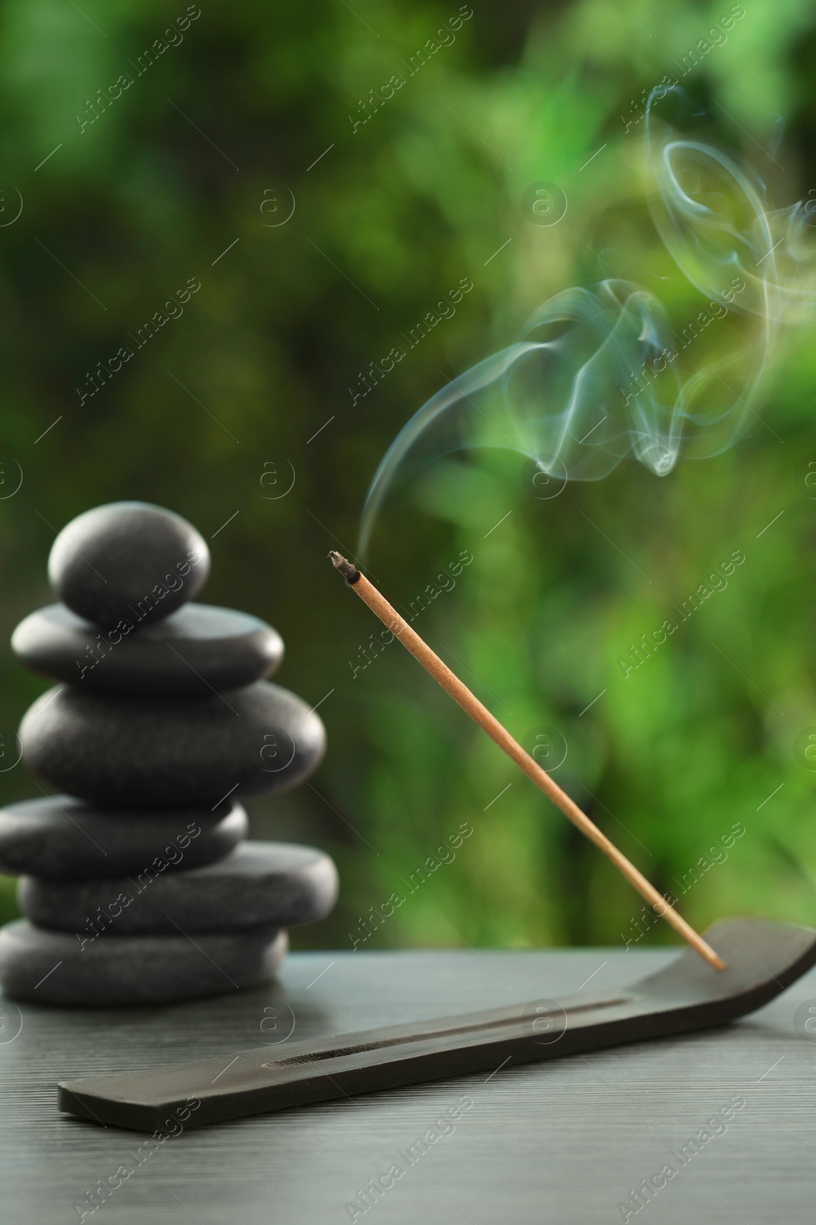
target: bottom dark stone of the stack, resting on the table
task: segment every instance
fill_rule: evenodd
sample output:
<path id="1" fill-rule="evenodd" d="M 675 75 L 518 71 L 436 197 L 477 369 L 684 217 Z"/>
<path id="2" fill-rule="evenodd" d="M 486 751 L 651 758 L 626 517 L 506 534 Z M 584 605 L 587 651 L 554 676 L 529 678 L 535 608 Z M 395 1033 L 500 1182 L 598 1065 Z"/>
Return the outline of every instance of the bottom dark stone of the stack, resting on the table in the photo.
<path id="1" fill-rule="evenodd" d="M 269 982 L 287 948 L 285 931 L 109 936 L 80 947 L 73 935 L 24 919 L 0 929 L 0 985 L 34 1003 L 77 1007 L 171 1003 Z"/>

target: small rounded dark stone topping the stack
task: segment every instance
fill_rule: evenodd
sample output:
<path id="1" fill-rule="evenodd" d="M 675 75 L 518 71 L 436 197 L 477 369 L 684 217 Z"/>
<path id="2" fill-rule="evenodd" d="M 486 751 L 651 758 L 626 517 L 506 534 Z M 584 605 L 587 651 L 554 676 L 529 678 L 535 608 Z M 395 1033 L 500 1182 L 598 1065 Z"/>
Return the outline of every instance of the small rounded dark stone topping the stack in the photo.
<path id="1" fill-rule="evenodd" d="M 192 523 L 149 502 L 109 502 L 71 519 L 48 559 L 64 604 L 88 621 L 159 620 L 203 587 L 209 549 Z"/>

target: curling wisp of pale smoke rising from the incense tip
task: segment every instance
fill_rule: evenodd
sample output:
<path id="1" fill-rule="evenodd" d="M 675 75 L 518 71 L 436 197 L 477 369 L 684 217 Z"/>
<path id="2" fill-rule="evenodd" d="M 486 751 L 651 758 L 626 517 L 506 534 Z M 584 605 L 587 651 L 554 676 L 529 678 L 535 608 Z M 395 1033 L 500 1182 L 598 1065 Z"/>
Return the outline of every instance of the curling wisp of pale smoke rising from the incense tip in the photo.
<path id="1" fill-rule="evenodd" d="M 673 87 L 667 93 L 681 91 Z M 385 452 L 368 489 L 360 551 L 398 474 L 470 447 L 505 447 L 542 473 L 598 480 L 632 454 L 656 475 L 683 452 L 733 446 L 763 387 L 781 325 L 816 306 L 814 203 L 771 211 L 762 185 L 730 156 L 656 130 L 647 108 L 646 158 L 657 232 L 706 307 L 672 331 L 659 299 L 630 281 L 571 288 L 540 306 L 508 348 L 428 399 Z M 683 350 L 735 312 L 754 328 L 724 355 Z"/>

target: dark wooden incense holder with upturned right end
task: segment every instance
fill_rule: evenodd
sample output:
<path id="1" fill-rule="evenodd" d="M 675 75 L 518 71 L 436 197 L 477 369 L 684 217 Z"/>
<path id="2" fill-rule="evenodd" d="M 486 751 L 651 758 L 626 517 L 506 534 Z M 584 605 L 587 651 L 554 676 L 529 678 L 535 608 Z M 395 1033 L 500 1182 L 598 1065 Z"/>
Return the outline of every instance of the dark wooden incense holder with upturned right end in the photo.
<path id="1" fill-rule="evenodd" d="M 59 1109 L 136 1131 L 175 1129 L 351 1098 L 423 1080 L 494 1072 L 621 1042 L 723 1025 L 761 1008 L 816 963 L 816 931 L 730 919 L 706 937 L 727 963 L 691 949 L 620 990 L 440 1020 L 269 1046 L 214 1060 L 65 1080 Z"/>

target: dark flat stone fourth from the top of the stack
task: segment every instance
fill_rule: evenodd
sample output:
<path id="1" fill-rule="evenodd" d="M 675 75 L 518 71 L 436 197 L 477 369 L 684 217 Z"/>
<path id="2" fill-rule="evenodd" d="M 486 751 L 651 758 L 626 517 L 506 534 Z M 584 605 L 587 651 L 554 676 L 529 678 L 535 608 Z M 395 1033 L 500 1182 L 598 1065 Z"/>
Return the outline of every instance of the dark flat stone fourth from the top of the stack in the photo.
<path id="1" fill-rule="evenodd" d="M 250 832 L 243 807 L 105 812 L 72 795 L 49 795 L 0 809 L 0 872 L 86 880 L 212 864 Z"/>

